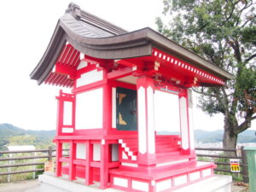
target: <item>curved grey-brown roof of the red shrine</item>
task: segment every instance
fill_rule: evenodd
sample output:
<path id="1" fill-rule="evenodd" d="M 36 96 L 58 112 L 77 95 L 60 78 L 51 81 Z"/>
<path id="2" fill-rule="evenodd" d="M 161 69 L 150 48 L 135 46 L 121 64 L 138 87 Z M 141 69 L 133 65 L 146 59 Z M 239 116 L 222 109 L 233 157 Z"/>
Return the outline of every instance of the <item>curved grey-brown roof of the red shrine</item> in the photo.
<path id="1" fill-rule="evenodd" d="M 38 80 L 38 84 L 44 82 L 67 42 L 84 55 L 107 60 L 148 56 L 153 54 L 154 49 L 159 49 L 220 79 L 232 79 L 230 73 L 151 28 L 127 32 L 73 3 L 58 21 L 43 58 L 31 73 L 31 79 Z"/>

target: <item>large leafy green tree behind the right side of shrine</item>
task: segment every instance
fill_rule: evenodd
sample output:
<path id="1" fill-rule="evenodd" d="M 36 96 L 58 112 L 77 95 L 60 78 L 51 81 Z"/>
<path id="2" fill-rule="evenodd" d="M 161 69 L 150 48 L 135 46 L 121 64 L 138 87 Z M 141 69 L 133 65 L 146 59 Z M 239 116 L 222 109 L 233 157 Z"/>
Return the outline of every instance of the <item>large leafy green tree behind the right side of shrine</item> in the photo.
<path id="1" fill-rule="evenodd" d="M 159 32 L 234 74 L 221 88 L 194 88 L 199 107 L 224 115 L 224 148 L 235 148 L 237 136 L 256 119 L 255 0 L 164 0 L 165 24 Z"/>

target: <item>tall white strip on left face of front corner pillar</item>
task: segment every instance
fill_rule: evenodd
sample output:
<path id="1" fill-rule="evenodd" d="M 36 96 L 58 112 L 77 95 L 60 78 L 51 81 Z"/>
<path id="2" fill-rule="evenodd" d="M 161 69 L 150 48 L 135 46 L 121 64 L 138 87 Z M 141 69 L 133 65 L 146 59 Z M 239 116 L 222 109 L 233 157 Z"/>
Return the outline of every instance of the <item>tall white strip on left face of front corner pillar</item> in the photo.
<path id="1" fill-rule="evenodd" d="M 138 141 L 139 152 L 146 153 L 147 150 L 147 130 L 146 130 L 146 101 L 145 101 L 145 89 L 140 87 L 137 90 L 137 108 L 138 108 Z"/>

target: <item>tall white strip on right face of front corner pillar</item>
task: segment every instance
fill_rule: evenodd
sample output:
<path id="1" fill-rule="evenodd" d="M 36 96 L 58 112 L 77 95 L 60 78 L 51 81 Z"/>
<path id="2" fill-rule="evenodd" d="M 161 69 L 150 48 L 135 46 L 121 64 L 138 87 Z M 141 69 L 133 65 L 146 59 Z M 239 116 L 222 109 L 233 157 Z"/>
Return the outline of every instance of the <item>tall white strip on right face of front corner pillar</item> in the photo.
<path id="1" fill-rule="evenodd" d="M 147 88 L 147 103 L 148 103 L 148 153 L 155 153 L 154 141 L 154 90 L 151 86 Z"/>

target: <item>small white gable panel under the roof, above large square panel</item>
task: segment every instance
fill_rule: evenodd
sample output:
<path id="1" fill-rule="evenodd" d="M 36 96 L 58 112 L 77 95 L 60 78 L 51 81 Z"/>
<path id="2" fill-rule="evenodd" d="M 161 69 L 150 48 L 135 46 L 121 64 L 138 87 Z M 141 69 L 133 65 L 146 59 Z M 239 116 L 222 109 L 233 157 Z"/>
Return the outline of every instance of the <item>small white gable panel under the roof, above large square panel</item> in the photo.
<path id="1" fill-rule="evenodd" d="M 81 74 L 81 77 L 77 79 L 77 87 L 95 83 L 103 79 L 103 71 L 92 70 L 90 72 Z"/>

